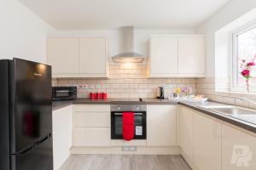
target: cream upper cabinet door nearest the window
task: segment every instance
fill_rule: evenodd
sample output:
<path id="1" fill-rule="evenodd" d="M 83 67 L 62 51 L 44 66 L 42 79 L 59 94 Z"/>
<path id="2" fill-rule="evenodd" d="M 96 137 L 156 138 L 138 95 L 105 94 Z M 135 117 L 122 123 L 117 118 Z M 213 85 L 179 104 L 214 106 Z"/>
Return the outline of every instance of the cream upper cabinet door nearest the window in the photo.
<path id="1" fill-rule="evenodd" d="M 178 73 L 205 74 L 204 37 L 178 38 Z"/>

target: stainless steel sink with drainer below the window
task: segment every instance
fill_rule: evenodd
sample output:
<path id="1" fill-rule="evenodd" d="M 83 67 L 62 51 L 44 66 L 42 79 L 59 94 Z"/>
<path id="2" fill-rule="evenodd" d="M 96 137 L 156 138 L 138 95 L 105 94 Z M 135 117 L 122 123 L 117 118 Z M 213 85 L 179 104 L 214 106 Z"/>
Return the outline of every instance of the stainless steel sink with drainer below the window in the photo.
<path id="1" fill-rule="evenodd" d="M 256 124 L 256 111 L 251 109 L 244 109 L 233 105 L 206 105 L 201 107 L 210 111 L 216 111 L 226 116 L 240 119 L 242 121 Z"/>

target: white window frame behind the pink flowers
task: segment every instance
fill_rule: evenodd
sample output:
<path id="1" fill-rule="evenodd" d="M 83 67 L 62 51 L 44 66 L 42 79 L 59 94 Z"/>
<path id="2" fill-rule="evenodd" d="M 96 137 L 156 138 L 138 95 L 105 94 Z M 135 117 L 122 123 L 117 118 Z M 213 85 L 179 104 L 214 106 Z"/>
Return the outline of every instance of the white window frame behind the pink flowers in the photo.
<path id="1" fill-rule="evenodd" d="M 237 62 L 237 37 L 244 32 L 250 31 L 256 28 L 256 22 L 253 21 L 253 24 L 250 23 L 246 26 L 242 26 L 241 28 L 237 29 L 236 31 L 231 32 L 231 69 L 230 69 L 230 92 L 234 93 L 247 93 L 246 84 L 237 84 L 237 75 L 238 72 L 238 62 Z M 254 68 L 256 69 L 256 68 Z M 235 73 L 235 74 L 234 74 Z M 250 94 L 256 94 L 256 84 L 250 85 Z"/>

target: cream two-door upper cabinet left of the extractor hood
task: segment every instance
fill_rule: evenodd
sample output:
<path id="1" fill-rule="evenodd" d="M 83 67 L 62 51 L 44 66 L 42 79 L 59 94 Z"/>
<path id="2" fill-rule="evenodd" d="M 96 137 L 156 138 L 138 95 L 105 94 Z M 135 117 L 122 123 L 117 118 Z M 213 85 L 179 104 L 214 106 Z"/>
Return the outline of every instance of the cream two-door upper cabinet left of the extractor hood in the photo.
<path id="1" fill-rule="evenodd" d="M 48 38 L 53 77 L 108 77 L 108 42 L 103 37 Z"/>

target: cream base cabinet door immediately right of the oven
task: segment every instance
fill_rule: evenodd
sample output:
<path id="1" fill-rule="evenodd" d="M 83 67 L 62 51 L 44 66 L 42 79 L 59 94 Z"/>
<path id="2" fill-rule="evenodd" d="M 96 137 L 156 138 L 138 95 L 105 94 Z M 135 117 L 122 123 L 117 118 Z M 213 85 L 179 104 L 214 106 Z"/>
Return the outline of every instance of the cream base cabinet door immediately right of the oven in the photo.
<path id="1" fill-rule="evenodd" d="M 176 106 L 147 106 L 148 146 L 176 145 Z"/>

